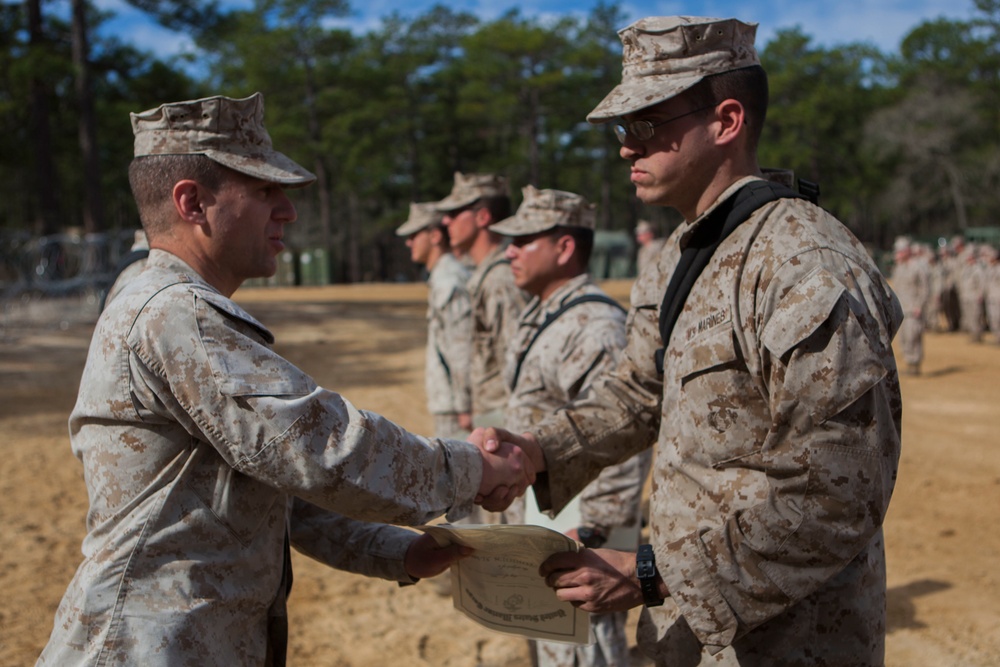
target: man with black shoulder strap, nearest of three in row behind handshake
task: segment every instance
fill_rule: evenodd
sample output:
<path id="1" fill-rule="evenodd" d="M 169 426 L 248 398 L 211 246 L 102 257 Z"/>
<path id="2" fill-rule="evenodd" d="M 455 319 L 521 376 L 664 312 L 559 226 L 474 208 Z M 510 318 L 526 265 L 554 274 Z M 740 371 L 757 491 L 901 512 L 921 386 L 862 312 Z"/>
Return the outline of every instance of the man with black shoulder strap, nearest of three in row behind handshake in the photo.
<path id="1" fill-rule="evenodd" d="M 504 367 L 510 389 L 506 427 L 515 433 L 531 430 L 586 391 L 592 378 L 614 368 L 625 347 L 624 310 L 587 273 L 594 222 L 594 207 L 583 197 L 528 186 L 517 214 L 494 226 L 512 237 L 507 258 L 514 280 L 533 297 L 521 313 Z M 581 297 L 588 300 L 577 302 Z M 587 485 L 581 493 L 576 539 L 598 546 L 613 528 L 638 527 L 650 460 L 647 450 L 605 468 Z M 586 535 L 581 534 L 584 530 Z M 588 646 L 537 642 L 537 664 L 627 665 L 627 618 L 625 611 L 591 615 L 595 642 Z"/>

